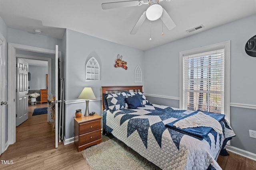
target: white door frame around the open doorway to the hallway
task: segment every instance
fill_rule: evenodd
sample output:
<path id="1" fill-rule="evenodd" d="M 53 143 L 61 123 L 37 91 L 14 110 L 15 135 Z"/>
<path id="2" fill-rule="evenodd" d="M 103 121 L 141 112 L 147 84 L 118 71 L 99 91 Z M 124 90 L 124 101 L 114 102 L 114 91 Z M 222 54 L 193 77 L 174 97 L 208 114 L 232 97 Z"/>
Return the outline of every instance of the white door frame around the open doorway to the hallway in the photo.
<path id="1" fill-rule="evenodd" d="M 53 55 L 55 54 L 55 50 L 8 43 L 8 145 L 14 144 L 16 142 L 16 49 Z M 59 57 L 61 57 L 60 51 L 58 54 Z M 50 84 L 52 81 L 51 78 L 49 78 L 49 81 Z"/>

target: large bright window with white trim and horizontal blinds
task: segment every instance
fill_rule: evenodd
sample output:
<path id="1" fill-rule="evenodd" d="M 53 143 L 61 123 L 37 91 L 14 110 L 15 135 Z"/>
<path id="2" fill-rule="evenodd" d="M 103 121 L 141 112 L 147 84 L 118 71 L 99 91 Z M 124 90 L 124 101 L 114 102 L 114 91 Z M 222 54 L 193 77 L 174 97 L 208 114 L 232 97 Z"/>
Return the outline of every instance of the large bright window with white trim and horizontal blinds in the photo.
<path id="1" fill-rule="evenodd" d="M 230 41 L 180 52 L 180 108 L 230 112 Z"/>

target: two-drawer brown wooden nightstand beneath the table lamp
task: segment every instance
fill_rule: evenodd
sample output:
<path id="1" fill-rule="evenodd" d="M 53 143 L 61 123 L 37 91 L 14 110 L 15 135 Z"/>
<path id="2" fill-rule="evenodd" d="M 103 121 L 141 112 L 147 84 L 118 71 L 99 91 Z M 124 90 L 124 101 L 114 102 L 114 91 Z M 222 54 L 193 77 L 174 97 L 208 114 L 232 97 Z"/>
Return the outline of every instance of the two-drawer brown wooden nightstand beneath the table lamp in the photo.
<path id="1" fill-rule="evenodd" d="M 74 117 L 74 144 L 78 152 L 101 143 L 101 119 L 97 114 Z"/>

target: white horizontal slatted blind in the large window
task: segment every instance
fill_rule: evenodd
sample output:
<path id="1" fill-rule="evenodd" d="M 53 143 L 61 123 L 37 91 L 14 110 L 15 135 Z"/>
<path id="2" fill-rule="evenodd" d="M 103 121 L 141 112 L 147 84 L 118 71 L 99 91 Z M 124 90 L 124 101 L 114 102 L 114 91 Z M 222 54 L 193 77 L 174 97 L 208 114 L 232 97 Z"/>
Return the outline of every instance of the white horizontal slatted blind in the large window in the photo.
<path id="1" fill-rule="evenodd" d="M 224 113 L 224 49 L 183 56 L 183 95 L 188 110 Z"/>

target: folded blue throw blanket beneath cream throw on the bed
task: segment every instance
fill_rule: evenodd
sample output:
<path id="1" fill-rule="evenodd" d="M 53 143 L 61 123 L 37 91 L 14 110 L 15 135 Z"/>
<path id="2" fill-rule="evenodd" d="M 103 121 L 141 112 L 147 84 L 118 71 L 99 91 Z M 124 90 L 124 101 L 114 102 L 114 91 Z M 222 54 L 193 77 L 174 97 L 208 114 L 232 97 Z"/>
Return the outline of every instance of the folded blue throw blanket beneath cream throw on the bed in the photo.
<path id="1" fill-rule="evenodd" d="M 218 114 L 218 113 L 210 113 L 210 112 L 206 112 L 206 111 L 202 111 L 203 113 L 205 113 L 206 115 L 209 115 L 210 117 L 216 119 L 217 121 L 222 121 L 222 119 L 224 119 L 225 115 L 224 114 Z M 184 119 L 186 117 L 189 117 L 189 116 L 192 116 L 192 115 L 195 115 L 196 113 L 198 113 L 198 111 L 195 111 L 193 113 L 190 113 L 188 115 L 185 115 L 171 123 L 167 123 L 165 125 L 165 127 L 167 128 L 170 128 L 170 129 L 174 129 L 180 133 L 184 133 L 186 135 L 189 135 L 189 136 L 192 136 L 192 137 L 195 137 L 196 139 L 199 139 L 199 140 L 203 140 L 204 137 L 206 137 L 206 135 L 208 135 L 208 133 L 210 131 L 212 131 L 212 127 L 190 127 L 190 128 L 186 128 L 186 129 L 181 129 L 179 127 L 175 127 L 173 126 L 173 124 L 181 119 Z"/>

